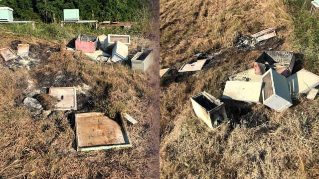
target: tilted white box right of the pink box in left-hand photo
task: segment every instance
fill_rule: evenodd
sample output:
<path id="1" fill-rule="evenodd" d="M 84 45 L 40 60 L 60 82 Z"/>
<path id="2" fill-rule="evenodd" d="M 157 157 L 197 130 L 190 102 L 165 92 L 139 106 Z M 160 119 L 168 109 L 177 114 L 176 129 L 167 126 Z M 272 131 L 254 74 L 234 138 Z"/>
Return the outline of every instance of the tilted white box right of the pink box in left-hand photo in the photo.
<path id="1" fill-rule="evenodd" d="M 114 63 L 128 60 L 129 58 L 129 47 L 121 41 L 115 43 L 115 47 L 112 51 L 111 61 Z"/>

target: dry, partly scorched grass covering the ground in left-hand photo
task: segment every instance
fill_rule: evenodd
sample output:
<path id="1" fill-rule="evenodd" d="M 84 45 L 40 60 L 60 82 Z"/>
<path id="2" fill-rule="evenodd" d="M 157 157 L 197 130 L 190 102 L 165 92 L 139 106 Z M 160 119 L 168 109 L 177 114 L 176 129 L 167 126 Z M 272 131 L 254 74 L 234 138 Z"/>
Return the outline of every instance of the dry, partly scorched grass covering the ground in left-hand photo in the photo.
<path id="1" fill-rule="evenodd" d="M 0 61 L 0 178 L 105 179 L 157 176 L 159 116 L 159 43 L 153 22 L 123 30 L 93 30 L 67 24 L 0 25 L 0 48 L 30 45 L 26 64 Z M 147 31 L 145 29 L 148 29 Z M 95 63 L 82 51 L 67 51 L 80 33 L 130 34 L 132 58 L 141 47 L 155 50 L 155 63 L 146 72 L 130 63 Z M 26 96 L 47 93 L 50 87 L 76 87 L 74 111 L 29 111 Z M 119 150 L 76 152 L 74 114 L 104 112 L 115 117 L 127 112 L 138 120 L 126 121 L 133 146 Z M 158 143 L 157 143 L 158 142 Z M 157 164 L 157 165 L 156 165 Z"/>

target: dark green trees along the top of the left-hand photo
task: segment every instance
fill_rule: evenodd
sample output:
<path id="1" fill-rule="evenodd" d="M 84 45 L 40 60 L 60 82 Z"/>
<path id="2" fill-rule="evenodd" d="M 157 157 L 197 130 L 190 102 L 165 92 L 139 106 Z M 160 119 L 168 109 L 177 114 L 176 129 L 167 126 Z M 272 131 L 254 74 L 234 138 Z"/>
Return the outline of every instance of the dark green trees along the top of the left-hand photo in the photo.
<path id="1" fill-rule="evenodd" d="M 14 20 L 63 20 L 63 9 L 79 9 L 80 20 L 133 22 L 148 18 L 152 0 L 1 0 Z"/>

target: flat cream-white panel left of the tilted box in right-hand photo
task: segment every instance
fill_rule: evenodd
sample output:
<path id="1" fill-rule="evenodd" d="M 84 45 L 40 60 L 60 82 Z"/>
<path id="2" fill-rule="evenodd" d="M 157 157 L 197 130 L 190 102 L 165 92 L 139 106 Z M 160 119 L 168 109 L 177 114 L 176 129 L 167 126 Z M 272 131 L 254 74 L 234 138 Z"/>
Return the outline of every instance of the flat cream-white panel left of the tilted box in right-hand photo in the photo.
<path id="1" fill-rule="evenodd" d="M 261 104 L 262 85 L 262 82 L 227 81 L 222 98 Z"/>

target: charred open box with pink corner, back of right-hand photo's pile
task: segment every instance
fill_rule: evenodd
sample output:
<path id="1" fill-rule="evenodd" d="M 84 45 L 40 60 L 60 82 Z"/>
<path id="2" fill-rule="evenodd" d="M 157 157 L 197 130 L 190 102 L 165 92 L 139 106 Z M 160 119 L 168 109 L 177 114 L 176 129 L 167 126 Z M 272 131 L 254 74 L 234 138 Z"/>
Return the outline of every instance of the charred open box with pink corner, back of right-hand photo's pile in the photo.
<path id="1" fill-rule="evenodd" d="M 289 77 L 293 71 L 296 57 L 290 51 L 264 51 L 254 62 L 255 74 L 263 75 L 268 69 Z"/>

